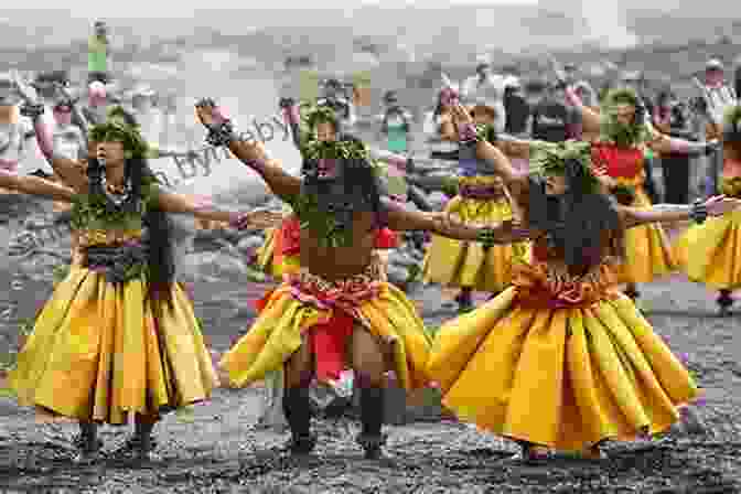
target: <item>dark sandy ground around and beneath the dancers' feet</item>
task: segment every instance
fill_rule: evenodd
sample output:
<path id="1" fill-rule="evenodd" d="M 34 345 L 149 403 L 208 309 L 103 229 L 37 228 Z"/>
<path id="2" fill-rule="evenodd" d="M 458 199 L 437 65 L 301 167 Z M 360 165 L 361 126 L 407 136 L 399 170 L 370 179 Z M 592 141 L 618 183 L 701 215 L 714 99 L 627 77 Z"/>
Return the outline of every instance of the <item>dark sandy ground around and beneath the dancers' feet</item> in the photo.
<path id="1" fill-rule="evenodd" d="M 15 316 L 4 331 L 33 315 L 49 283 L 26 280 L 8 290 Z M 249 300 L 266 286 L 202 283 L 194 287 L 196 312 L 210 344 L 224 351 L 254 315 Z M 669 291 L 670 290 L 670 291 Z M 705 434 L 677 434 L 663 442 L 614 444 L 601 464 L 559 459 L 548 466 L 512 462 L 511 443 L 454 422 L 388 427 L 394 464 L 362 460 L 351 421 L 318 421 L 314 458 L 299 462 L 277 449 L 284 437 L 254 429 L 259 388 L 218 390 L 192 416 L 169 416 L 158 430 L 163 460 L 133 465 L 108 460 L 74 465 L 73 426 L 37 426 L 28 410 L 0 400 L 0 492 L 189 492 L 189 493 L 737 493 L 741 492 L 741 335 L 738 314 L 715 315 L 711 294 L 680 278 L 644 289 L 649 319 L 707 390 L 698 412 Z M 453 316 L 441 293 L 416 294 L 426 321 Z M 8 299 L 8 298 L 6 298 Z M 125 429 L 104 429 L 106 450 Z M 4 491 L 3 491 L 4 488 Z"/>

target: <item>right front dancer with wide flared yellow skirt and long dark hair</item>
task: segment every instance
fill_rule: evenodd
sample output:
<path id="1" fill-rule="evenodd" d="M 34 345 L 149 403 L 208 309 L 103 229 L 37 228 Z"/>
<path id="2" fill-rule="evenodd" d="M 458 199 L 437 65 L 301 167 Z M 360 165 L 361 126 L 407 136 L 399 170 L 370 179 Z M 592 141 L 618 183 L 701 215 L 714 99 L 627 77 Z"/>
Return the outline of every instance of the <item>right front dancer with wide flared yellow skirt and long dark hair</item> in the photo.
<path id="1" fill-rule="evenodd" d="M 525 460 L 550 450 L 600 459 L 603 441 L 668 429 L 699 390 L 687 369 L 614 273 L 626 228 L 702 221 L 739 208 L 738 200 L 626 207 L 600 183 L 590 144 L 538 144 L 527 174 L 457 110 L 462 149 L 491 163 L 522 207 L 533 260 L 513 287 L 443 325 L 428 365 L 443 405 L 462 419 L 517 441 Z"/>

